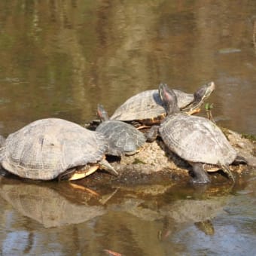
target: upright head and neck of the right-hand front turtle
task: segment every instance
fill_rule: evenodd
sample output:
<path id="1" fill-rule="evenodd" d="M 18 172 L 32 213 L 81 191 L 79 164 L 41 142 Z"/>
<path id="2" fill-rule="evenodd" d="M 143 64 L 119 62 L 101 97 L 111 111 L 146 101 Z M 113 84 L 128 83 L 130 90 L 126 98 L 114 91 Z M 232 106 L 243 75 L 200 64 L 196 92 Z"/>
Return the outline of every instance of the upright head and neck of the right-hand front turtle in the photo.
<path id="1" fill-rule="evenodd" d="M 174 114 L 180 111 L 178 108 L 177 97 L 173 90 L 169 89 L 167 84 L 160 84 L 158 92 L 163 101 L 163 105 L 166 108 L 167 114 Z"/>

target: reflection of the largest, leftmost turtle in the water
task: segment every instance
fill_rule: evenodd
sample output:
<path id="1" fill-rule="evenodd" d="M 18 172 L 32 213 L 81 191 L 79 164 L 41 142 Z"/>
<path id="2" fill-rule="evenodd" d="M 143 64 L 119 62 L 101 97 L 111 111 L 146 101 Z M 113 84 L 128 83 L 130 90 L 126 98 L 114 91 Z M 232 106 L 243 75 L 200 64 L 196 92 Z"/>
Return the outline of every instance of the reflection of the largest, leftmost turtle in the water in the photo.
<path id="1" fill-rule="evenodd" d="M 66 189 L 71 187 L 67 186 Z M 105 214 L 102 206 L 89 206 L 86 200 L 80 204 L 72 202 L 54 190 L 54 187 L 40 184 L 2 182 L 0 194 L 21 215 L 38 221 L 44 227 L 77 224 Z"/>

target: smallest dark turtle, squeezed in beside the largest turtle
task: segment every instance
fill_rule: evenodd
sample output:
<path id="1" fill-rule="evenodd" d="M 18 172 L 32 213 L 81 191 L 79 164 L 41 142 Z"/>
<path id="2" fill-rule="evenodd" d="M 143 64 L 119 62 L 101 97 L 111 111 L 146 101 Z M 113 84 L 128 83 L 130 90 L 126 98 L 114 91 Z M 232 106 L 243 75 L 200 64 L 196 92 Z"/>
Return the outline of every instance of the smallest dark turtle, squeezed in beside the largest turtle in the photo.
<path id="1" fill-rule="evenodd" d="M 96 131 L 108 138 L 107 154 L 118 157 L 123 154 L 136 154 L 145 144 L 144 133 L 129 123 L 124 123 L 120 120 L 109 120 L 108 113 L 103 105 L 98 105 L 97 113 L 102 123 L 97 126 Z"/>

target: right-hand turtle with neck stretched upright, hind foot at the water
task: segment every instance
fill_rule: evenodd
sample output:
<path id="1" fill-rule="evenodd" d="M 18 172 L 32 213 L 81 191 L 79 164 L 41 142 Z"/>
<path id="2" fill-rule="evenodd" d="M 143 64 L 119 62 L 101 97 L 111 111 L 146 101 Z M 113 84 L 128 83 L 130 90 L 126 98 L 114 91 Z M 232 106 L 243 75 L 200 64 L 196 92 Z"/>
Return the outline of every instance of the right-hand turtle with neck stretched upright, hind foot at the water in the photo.
<path id="1" fill-rule="evenodd" d="M 166 84 L 160 84 L 159 94 L 167 111 L 167 117 L 160 123 L 160 136 L 172 152 L 190 163 L 194 173 L 192 182 L 209 183 L 207 171 L 219 169 L 234 182 L 229 165 L 236 160 L 237 153 L 221 129 L 205 117 L 181 112 L 175 93 Z"/>

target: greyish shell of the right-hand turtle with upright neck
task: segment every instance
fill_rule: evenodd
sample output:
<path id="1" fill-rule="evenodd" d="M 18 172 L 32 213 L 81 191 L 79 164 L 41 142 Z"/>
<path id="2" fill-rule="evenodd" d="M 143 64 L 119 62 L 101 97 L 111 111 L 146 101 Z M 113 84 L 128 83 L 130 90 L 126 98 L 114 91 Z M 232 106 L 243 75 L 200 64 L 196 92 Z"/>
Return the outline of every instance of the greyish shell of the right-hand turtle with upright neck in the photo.
<path id="1" fill-rule="evenodd" d="M 172 114 L 163 120 L 159 131 L 168 148 L 189 162 L 224 166 L 236 158 L 220 128 L 204 117 Z"/>

